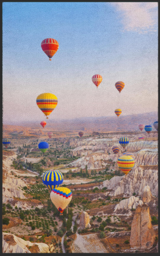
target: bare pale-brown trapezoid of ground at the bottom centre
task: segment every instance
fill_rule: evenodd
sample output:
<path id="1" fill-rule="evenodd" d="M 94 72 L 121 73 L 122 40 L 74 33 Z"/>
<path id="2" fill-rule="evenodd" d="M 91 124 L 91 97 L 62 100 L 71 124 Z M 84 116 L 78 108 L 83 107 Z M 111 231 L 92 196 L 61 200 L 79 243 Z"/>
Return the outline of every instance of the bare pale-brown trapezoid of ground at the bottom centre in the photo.
<path id="1" fill-rule="evenodd" d="M 72 244 L 72 253 L 108 253 L 97 234 L 80 235 Z"/>

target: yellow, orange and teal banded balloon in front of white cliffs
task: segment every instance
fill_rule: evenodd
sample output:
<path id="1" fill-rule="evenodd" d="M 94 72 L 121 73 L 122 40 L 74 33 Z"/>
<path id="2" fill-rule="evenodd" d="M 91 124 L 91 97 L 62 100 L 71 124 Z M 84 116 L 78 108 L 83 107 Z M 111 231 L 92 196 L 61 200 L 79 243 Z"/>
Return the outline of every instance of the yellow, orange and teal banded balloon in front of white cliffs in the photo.
<path id="1" fill-rule="evenodd" d="M 117 160 L 118 167 L 125 174 L 129 173 L 129 171 L 133 168 L 134 163 L 134 158 L 132 156 L 122 155 Z"/>

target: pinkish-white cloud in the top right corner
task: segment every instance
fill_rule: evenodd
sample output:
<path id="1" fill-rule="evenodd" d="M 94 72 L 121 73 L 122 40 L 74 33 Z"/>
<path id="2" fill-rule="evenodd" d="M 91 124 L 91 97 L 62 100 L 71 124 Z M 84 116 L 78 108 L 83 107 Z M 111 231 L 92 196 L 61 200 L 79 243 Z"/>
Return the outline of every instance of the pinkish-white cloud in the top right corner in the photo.
<path id="1" fill-rule="evenodd" d="M 147 33 L 157 31 L 158 2 L 111 2 L 115 6 L 124 30 Z"/>

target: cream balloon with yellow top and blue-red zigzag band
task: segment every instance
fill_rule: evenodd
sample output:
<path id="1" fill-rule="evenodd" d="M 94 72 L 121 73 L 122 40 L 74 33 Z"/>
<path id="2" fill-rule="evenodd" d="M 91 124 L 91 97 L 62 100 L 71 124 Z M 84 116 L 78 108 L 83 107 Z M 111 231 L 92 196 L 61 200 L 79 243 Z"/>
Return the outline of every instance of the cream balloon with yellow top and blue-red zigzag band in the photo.
<path id="1" fill-rule="evenodd" d="M 58 211 L 60 211 L 60 215 L 63 215 L 64 209 L 72 199 L 72 192 L 69 188 L 58 187 L 51 191 L 50 199 Z"/>

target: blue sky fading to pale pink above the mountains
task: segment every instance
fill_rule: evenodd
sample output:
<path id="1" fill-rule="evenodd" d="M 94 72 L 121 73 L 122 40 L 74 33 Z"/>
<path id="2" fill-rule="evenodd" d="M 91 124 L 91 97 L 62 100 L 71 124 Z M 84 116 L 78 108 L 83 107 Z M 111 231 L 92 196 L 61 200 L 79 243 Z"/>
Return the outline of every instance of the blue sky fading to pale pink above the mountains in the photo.
<path id="1" fill-rule="evenodd" d="M 2 33 L 3 124 L 46 121 L 45 92 L 50 121 L 158 111 L 158 2 L 3 2 Z M 45 38 L 59 43 L 51 61 Z"/>

